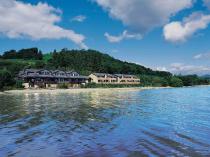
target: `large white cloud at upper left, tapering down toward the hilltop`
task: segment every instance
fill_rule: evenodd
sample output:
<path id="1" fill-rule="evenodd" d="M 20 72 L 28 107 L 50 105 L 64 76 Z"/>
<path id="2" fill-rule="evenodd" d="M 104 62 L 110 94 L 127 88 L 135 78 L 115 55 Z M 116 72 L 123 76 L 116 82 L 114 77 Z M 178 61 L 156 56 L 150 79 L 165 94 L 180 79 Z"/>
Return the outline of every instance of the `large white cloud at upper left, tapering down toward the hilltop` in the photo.
<path id="1" fill-rule="evenodd" d="M 0 33 L 9 38 L 61 39 L 66 38 L 87 48 L 85 37 L 56 23 L 61 11 L 39 2 L 37 5 L 16 0 L 0 0 Z"/>

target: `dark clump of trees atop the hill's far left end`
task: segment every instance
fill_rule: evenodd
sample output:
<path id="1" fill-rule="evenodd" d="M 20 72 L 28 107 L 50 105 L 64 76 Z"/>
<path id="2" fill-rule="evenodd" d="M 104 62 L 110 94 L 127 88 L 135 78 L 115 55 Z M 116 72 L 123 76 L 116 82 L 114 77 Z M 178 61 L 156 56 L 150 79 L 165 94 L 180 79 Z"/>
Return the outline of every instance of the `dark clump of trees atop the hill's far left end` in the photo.
<path id="1" fill-rule="evenodd" d="M 10 50 L 3 53 L 3 59 L 35 59 L 42 60 L 42 52 L 38 48 L 21 49 L 19 51 Z"/>

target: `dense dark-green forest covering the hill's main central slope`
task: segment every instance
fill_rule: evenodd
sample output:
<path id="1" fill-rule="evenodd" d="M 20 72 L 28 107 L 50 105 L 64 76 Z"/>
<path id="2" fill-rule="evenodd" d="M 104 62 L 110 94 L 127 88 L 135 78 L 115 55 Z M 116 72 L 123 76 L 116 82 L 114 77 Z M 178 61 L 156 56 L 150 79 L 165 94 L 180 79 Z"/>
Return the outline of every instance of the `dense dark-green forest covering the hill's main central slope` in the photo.
<path id="1" fill-rule="evenodd" d="M 54 68 L 75 69 L 86 72 L 122 73 L 122 74 L 145 74 L 167 77 L 169 72 L 153 71 L 144 66 L 123 62 L 107 54 L 95 50 L 66 50 L 52 53 L 49 64 Z"/>

